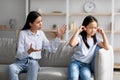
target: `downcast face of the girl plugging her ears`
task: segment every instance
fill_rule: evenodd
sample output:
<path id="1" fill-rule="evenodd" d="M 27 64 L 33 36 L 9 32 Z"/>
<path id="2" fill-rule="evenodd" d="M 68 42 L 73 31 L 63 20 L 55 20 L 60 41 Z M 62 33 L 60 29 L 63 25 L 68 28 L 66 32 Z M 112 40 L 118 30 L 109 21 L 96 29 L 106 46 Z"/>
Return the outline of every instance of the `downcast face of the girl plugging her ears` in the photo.
<path id="1" fill-rule="evenodd" d="M 90 22 L 86 26 L 87 37 L 92 37 L 97 32 L 97 23 L 95 21 Z"/>

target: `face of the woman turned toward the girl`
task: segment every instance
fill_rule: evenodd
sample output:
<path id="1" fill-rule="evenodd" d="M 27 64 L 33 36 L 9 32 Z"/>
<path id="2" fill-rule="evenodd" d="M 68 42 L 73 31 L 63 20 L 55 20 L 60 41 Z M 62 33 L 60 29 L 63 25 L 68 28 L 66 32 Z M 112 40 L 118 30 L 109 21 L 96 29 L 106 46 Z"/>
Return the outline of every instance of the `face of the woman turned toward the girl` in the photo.
<path id="1" fill-rule="evenodd" d="M 33 23 L 30 23 L 31 30 L 39 30 L 42 28 L 42 17 L 39 16 Z"/>

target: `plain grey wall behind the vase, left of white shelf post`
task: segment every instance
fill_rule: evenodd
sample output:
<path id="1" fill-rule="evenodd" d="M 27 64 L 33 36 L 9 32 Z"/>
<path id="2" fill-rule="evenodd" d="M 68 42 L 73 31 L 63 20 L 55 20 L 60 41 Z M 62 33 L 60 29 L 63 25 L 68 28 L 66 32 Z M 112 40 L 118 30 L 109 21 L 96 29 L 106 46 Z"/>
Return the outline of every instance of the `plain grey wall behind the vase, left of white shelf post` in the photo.
<path id="1" fill-rule="evenodd" d="M 9 20 L 16 19 L 16 28 L 25 23 L 25 0 L 0 0 L 0 25 L 9 27 Z"/>

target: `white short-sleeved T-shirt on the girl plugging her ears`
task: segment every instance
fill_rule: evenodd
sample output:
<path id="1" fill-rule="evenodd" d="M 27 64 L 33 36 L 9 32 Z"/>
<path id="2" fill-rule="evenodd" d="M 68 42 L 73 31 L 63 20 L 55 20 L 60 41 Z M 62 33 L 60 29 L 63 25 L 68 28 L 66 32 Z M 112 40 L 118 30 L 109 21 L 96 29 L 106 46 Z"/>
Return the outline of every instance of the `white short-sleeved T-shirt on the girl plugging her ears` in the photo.
<path id="1" fill-rule="evenodd" d="M 84 63 L 90 63 L 93 58 L 96 45 L 100 42 L 100 40 L 97 40 L 97 43 L 94 44 L 93 38 L 87 38 L 87 42 L 90 46 L 89 49 L 86 47 L 81 35 L 78 36 L 78 40 L 79 44 L 75 47 L 72 59 Z"/>

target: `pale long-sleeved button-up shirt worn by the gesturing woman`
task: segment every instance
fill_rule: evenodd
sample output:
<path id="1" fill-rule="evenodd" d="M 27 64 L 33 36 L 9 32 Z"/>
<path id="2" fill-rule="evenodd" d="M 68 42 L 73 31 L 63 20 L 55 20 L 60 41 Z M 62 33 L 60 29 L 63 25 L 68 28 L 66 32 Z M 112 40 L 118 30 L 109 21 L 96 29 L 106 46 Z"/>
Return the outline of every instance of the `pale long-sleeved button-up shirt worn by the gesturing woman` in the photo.
<path id="1" fill-rule="evenodd" d="M 60 39 L 55 38 L 52 44 L 48 41 L 43 31 L 38 30 L 36 34 L 32 33 L 30 30 L 22 30 L 19 34 L 18 39 L 18 49 L 16 58 L 24 59 L 31 57 L 33 59 L 41 58 L 41 51 L 32 52 L 28 54 L 28 49 L 32 44 L 34 49 L 47 49 L 50 52 L 55 52 L 59 45 Z"/>

